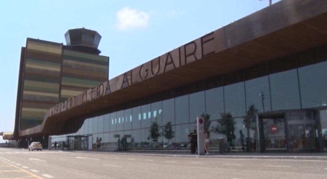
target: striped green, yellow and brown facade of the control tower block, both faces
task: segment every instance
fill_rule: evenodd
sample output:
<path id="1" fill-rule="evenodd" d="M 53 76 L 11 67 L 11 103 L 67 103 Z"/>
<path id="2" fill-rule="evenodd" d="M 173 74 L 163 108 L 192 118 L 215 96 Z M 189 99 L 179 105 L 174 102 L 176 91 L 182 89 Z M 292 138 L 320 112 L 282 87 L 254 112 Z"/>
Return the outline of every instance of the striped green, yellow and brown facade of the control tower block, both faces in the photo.
<path id="1" fill-rule="evenodd" d="M 19 112 L 21 130 L 40 125 L 51 107 L 108 80 L 109 57 L 27 38 Z"/>

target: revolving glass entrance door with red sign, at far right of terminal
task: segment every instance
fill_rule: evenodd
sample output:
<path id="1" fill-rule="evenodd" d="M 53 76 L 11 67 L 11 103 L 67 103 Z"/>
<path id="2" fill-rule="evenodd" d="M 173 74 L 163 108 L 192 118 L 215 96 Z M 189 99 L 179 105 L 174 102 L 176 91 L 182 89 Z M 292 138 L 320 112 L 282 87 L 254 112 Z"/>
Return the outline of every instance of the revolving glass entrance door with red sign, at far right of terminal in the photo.
<path id="1" fill-rule="evenodd" d="M 318 150 L 315 110 L 289 110 L 259 114 L 261 152 Z"/>

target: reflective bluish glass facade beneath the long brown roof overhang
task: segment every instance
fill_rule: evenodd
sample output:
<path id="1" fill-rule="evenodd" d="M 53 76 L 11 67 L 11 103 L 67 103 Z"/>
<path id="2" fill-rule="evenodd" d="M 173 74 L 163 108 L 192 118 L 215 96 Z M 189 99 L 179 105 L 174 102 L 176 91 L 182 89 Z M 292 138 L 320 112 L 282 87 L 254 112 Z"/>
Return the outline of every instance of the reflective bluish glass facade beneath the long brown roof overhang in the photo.
<path id="1" fill-rule="evenodd" d="M 255 114 L 327 105 L 327 62 L 303 66 L 296 62 L 298 66 L 291 66 L 285 62 L 287 58 L 277 61 L 280 62 L 275 60 L 250 70 L 233 72 L 233 75 L 226 74 L 226 78 L 225 75 L 219 76 L 217 78 L 223 79 L 223 83 L 211 85 L 210 81 L 206 81 L 203 88 L 199 88 L 201 90 L 192 91 L 186 86 L 186 92 L 176 92 L 172 97 L 140 102 L 140 105 L 128 109 L 86 119 L 76 134 L 69 135 L 88 135 L 92 137 L 92 141 L 89 139 L 92 146 L 96 137 L 100 137 L 101 150 L 189 150 L 188 134 L 196 129 L 196 118 L 209 114 L 212 151 L 219 150 L 219 138 L 224 139 L 225 150 L 241 152 L 250 148 L 258 151 L 259 131 Z M 325 116 L 320 117 L 320 123 L 327 143 L 326 111 L 321 111 L 320 116 Z M 267 150 L 286 148 L 285 131 L 297 127 L 297 124 L 287 126 L 285 122 L 286 119 L 282 118 L 262 120 L 265 143 L 261 145 L 265 145 Z M 307 126 L 304 128 L 310 127 Z M 278 132 L 274 131 L 274 127 Z M 65 136 L 68 135 L 52 136 L 52 142 L 65 140 Z M 298 144 L 297 148 L 300 147 Z"/>

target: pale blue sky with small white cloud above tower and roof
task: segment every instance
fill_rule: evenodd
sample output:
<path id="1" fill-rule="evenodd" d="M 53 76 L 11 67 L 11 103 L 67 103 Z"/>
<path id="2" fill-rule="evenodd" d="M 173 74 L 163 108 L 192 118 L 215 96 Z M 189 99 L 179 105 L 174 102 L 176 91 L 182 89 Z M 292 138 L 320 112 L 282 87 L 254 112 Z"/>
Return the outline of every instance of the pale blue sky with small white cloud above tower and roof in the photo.
<path id="1" fill-rule="evenodd" d="M 68 29 L 96 30 L 113 78 L 267 6 L 268 0 L 3 0 L 0 131 L 13 130 L 20 51 L 27 37 L 65 44 Z"/>

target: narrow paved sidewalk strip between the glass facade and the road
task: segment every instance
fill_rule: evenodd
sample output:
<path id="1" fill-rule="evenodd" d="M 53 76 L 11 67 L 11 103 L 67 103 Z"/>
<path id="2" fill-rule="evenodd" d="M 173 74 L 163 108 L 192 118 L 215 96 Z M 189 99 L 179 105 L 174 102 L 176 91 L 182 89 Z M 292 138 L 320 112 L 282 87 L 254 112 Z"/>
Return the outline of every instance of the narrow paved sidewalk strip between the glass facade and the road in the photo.
<path id="1" fill-rule="evenodd" d="M 107 152 L 107 151 L 71 151 L 86 153 L 108 153 L 118 155 L 138 155 L 156 157 L 195 157 L 195 158 L 235 158 L 235 159 L 292 159 L 292 160 L 326 160 L 327 153 L 212 153 L 210 155 L 191 155 L 188 153 L 172 152 Z"/>

